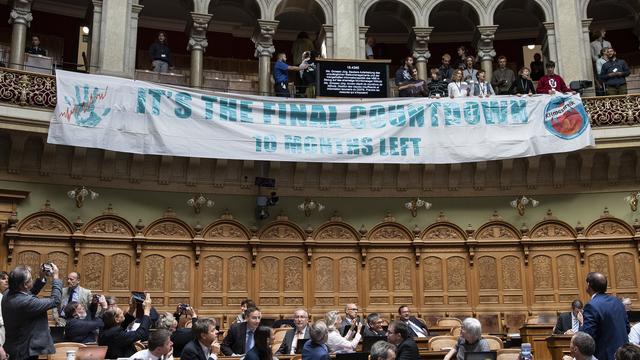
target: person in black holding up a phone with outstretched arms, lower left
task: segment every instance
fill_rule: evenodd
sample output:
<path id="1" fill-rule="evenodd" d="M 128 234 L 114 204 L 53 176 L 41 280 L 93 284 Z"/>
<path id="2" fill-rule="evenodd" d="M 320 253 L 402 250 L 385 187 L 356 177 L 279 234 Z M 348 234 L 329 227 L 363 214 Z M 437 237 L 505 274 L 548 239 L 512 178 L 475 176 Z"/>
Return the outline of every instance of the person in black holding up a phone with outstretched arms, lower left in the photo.
<path id="1" fill-rule="evenodd" d="M 129 357 L 136 352 L 133 344 L 136 341 L 147 339 L 149 337 L 149 327 L 151 327 L 151 297 L 147 294 L 146 299 L 142 303 L 144 313 L 142 315 L 140 326 L 135 331 L 127 331 L 127 326 L 131 324 L 135 317 L 136 302 L 131 298 L 129 310 L 126 314 L 120 308 L 108 309 L 102 315 L 104 321 L 104 331 L 98 336 L 98 345 L 108 346 L 107 359 L 115 359 L 120 357 Z"/>

